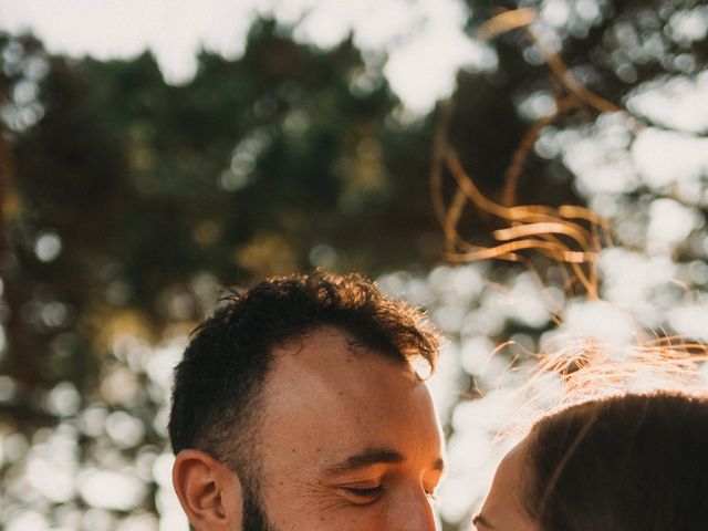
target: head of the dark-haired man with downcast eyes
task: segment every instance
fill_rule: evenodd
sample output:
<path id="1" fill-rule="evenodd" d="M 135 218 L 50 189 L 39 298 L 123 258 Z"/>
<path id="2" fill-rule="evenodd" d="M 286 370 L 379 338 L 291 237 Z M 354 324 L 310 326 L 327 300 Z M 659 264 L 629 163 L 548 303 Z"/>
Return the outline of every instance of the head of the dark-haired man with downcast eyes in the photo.
<path id="1" fill-rule="evenodd" d="M 176 371 L 175 488 L 198 530 L 434 528 L 441 442 L 412 362 L 437 337 L 358 277 L 235 295 Z"/>

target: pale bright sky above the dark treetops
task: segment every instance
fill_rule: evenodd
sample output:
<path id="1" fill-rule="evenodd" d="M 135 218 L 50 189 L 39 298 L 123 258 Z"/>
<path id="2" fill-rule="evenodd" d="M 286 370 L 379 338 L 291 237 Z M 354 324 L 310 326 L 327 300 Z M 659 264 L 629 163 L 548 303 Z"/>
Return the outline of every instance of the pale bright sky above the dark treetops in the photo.
<path id="1" fill-rule="evenodd" d="M 462 32 L 460 0 L 0 0 L 0 30 L 31 30 L 52 52 L 131 58 L 149 48 L 170 82 L 189 80 L 195 52 L 236 59 L 256 17 L 295 27 L 299 41 L 329 48 L 350 31 L 365 52 L 386 52 L 386 76 L 414 113 L 451 93 L 465 64 L 493 53 Z"/>

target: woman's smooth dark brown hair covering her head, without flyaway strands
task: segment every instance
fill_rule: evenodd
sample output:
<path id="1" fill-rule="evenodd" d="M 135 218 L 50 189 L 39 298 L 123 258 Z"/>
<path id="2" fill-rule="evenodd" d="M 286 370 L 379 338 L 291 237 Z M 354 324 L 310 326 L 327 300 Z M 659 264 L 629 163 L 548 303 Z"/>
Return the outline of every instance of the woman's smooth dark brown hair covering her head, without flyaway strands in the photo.
<path id="1" fill-rule="evenodd" d="M 708 530 L 708 397 L 623 394 L 527 438 L 524 509 L 542 531 Z"/>

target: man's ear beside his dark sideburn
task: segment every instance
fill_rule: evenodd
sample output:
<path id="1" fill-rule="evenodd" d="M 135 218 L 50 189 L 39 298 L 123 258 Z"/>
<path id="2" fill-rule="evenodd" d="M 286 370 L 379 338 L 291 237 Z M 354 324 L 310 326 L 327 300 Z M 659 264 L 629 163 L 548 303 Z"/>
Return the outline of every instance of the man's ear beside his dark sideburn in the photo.
<path id="1" fill-rule="evenodd" d="M 183 450 L 173 466 L 173 485 L 197 531 L 240 531 L 241 481 L 229 467 L 199 450 Z"/>

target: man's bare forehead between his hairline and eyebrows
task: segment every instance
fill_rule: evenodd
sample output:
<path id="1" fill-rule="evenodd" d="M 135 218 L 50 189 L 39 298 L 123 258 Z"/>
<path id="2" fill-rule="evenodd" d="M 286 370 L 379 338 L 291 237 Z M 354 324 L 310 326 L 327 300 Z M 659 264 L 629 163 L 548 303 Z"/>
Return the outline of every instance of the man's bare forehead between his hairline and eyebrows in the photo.
<path id="1" fill-rule="evenodd" d="M 353 352 L 344 334 L 324 330 L 283 345 L 263 388 L 263 423 L 272 434 L 345 452 L 400 448 L 416 433 L 428 442 L 438 424 L 427 386 L 413 371 L 369 351 Z M 437 439 L 436 439 L 437 440 Z"/>

